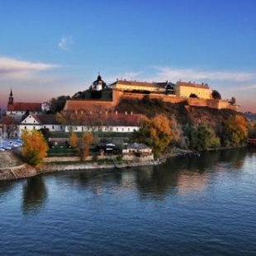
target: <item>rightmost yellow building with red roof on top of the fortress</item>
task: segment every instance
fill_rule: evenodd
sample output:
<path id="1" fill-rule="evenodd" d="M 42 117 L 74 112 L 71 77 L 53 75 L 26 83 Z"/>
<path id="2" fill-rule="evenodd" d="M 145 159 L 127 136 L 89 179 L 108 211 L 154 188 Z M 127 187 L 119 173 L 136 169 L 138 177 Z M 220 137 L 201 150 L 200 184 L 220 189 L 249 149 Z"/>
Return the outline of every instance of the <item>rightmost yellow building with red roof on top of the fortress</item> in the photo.
<path id="1" fill-rule="evenodd" d="M 175 94 L 177 97 L 190 97 L 196 94 L 199 98 L 211 99 L 211 89 L 206 83 L 187 83 L 179 81 L 175 86 Z"/>

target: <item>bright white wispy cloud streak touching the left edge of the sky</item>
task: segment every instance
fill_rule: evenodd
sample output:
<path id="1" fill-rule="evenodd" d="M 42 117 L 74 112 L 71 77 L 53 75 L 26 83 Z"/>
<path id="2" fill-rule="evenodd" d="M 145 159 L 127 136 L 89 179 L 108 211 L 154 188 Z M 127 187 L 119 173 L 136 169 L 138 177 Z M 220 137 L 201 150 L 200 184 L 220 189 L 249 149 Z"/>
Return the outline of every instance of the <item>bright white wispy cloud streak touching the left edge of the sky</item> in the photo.
<path id="1" fill-rule="evenodd" d="M 19 73 L 29 71 L 40 71 L 59 67 L 55 64 L 32 63 L 30 61 L 12 59 L 0 56 L 0 73 Z"/>

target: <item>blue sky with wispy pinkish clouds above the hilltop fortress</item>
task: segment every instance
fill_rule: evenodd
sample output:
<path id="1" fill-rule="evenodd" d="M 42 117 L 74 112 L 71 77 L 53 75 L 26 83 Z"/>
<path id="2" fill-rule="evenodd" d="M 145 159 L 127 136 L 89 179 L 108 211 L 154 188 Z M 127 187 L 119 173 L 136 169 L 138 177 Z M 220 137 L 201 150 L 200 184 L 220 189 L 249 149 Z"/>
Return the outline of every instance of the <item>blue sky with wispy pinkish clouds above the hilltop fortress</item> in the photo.
<path id="1" fill-rule="evenodd" d="M 101 73 L 208 83 L 256 112 L 254 0 L 0 0 L 0 106 L 87 89 Z"/>

